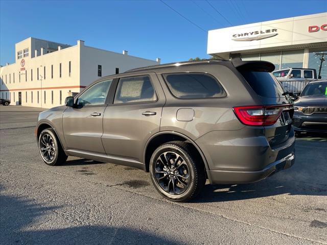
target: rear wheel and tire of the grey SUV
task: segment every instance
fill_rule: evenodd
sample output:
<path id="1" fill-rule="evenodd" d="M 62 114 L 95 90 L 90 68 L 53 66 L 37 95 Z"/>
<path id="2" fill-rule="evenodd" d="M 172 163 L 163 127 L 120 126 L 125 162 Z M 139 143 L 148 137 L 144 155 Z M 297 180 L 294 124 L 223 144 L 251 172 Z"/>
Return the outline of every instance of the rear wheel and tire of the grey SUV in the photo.
<path id="1" fill-rule="evenodd" d="M 160 145 L 150 159 L 151 181 L 157 191 L 171 201 L 189 201 L 205 184 L 203 161 L 191 146 L 182 141 L 168 142 Z M 168 159 L 166 164 L 165 159 Z"/>

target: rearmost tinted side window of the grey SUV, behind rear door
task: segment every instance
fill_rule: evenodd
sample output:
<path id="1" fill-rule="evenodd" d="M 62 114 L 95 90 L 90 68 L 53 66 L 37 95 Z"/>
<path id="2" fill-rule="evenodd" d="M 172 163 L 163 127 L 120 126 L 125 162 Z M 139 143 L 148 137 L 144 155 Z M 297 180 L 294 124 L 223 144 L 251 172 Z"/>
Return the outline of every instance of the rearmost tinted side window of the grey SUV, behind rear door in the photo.
<path id="1" fill-rule="evenodd" d="M 210 75 L 199 73 L 164 74 L 171 93 L 179 99 L 225 97 L 226 92 Z"/>

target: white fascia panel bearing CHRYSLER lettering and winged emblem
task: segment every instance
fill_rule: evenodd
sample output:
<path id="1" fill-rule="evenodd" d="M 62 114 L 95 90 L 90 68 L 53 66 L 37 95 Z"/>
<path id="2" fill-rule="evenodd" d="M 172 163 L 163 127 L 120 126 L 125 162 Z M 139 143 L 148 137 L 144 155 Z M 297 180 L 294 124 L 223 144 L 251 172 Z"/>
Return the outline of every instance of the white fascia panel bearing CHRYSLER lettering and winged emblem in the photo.
<path id="1" fill-rule="evenodd" d="M 231 52 L 258 53 L 282 46 L 297 49 L 323 44 L 327 42 L 326 19 L 327 12 L 210 30 L 207 53 L 227 59 Z"/>

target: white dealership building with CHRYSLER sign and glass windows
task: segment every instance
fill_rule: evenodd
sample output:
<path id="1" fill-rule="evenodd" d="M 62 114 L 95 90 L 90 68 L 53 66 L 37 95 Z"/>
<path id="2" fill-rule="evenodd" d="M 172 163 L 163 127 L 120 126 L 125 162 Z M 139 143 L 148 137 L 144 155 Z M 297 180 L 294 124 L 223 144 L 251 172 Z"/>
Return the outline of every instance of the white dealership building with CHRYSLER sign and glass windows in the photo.
<path id="1" fill-rule="evenodd" d="M 327 13 L 211 30 L 207 53 L 270 61 L 276 70 L 314 68 L 318 74 L 321 65 L 320 75 L 327 79 Z"/>

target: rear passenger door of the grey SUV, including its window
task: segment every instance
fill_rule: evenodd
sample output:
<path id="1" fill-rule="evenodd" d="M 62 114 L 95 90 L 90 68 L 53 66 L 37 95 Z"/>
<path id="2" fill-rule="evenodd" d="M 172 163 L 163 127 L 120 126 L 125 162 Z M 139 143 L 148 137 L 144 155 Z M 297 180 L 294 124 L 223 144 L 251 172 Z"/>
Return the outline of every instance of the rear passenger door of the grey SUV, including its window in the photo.
<path id="1" fill-rule="evenodd" d="M 164 91 L 154 72 L 119 78 L 104 112 L 102 143 L 107 155 L 143 160 L 144 145 L 159 132 Z"/>

